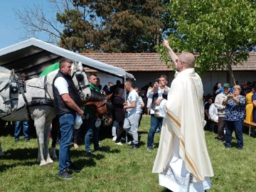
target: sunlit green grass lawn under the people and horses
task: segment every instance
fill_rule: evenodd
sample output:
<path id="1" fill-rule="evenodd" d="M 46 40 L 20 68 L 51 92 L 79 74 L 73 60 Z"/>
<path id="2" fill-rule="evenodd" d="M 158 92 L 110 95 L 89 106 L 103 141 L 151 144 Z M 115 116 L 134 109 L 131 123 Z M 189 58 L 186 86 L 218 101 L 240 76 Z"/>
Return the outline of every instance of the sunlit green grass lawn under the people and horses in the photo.
<path id="1" fill-rule="evenodd" d="M 106 152 L 95 152 L 95 156 L 86 156 L 83 144 L 79 149 L 72 147 L 73 162 L 82 169 L 73 174 L 72 180 L 58 177 L 58 161 L 39 166 L 36 139 L 28 143 L 21 139 L 16 144 L 13 135 L 4 129 L 1 144 L 6 156 L 0 159 L 0 191 L 165 191 L 158 184 L 158 175 L 151 173 L 157 149 L 146 150 L 149 126 L 149 116 L 143 116 L 139 127 L 142 140 L 134 151 L 125 144 L 115 145 L 112 137 L 100 141 Z M 225 149 L 215 137 L 216 134 L 206 131 L 215 174 L 209 191 L 256 191 L 256 139 L 249 137 L 246 129 L 244 149 L 238 150 L 235 138 L 234 147 Z M 158 146 L 159 134 L 155 135 L 154 143 Z"/>

